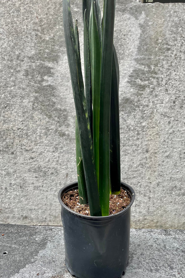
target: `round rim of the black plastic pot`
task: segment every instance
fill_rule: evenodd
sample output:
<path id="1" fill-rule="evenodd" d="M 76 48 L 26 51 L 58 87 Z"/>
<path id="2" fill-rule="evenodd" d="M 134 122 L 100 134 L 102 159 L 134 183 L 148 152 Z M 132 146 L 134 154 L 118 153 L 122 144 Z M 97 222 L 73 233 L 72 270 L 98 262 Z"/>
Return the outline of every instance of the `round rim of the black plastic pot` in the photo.
<path id="1" fill-rule="evenodd" d="M 105 219 L 107 219 L 108 217 L 118 217 L 118 216 L 120 216 L 120 214 L 125 213 L 125 212 L 131 207 L 131 205 L 134 203 L 134 200 L 135 200 L 135 191 L 134 191 L 134 189 L 133 189 L 130 185 L 128 185 L 128 184 L 126 184 L 126 183 L 124 183 L 124 182 L 121 182 L 121 187 L 123 187 L 124 189 L 126 189 L 126 190 L 130 193 L 130 196 L 131 196 L 130 204 L 129 204 L 125 209 L 121 210 L 120 212 L 118 212 L 118 213 L 116 213 L 116 214 L 107 215 L 107 216 L 88 216 L 88 215 L 83 215 L 83 214 L 81 214 L 81 213 L 78 213 L 78 212 L 72 210 L 71 208 L 68 208 L 68 207 L 63 203 L 63 201 L 62 201 L 62 199 L 61 199 L 61 196 L 62 196 L 65 192 L 68 192 L 68 191 L 70 190 L 70 188 L 76 188 L 76 187 L 78 187 L 78 182 L 77 182 L 77 181 L 76 181 L 76 182 L 73 182 L 73 183 L 69 183 L 69 184 L 65 185 L 64 187 L 62 187 L 62 188 L 60 189 L 59 193 L 58 193 L 58 200 L 59 200 L 61 206 L 63 206 L 66 210 L 68 210 L 68 212 L 70 212 L 70 213 L 72 213 L 72 214 L 74 214 L 74 215 L 76 215 L 76 216 L 78 216 L 78 217 L 86 218 L 86 219 L 89 219 L 89 220 L 90 220 L 90 219 L 92 219 L 92 220 L 95 220 L 95 219 L 96 219 L 96 220 L 97 220 L 97 219 L 99 219 L 99 220 L 105 220 Z"/>

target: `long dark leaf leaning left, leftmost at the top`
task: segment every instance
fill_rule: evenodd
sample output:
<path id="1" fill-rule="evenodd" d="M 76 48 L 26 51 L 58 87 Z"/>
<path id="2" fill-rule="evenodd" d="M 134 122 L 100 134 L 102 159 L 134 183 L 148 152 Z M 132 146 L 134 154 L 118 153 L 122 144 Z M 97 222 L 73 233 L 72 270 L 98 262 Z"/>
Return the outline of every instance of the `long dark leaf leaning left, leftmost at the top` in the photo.
<path id="1" fill-rule="evenodd" d="M 96 170 L 93 158 L 92 138 L 84 95 L 84 83 L 81 63 L 77 52 L 69 0 L 63 0 L 63 21 L 90 214 L 93 216 L 101 216 Z"/>

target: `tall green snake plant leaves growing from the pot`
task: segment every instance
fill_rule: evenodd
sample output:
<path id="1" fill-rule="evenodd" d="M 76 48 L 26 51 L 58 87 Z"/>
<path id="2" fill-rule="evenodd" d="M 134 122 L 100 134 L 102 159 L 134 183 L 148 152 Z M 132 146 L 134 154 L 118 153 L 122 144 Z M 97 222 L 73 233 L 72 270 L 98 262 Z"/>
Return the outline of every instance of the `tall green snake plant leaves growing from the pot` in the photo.
<path id="1" fill-rule="evenodd" d="M 109 215 L 109 194 L 121 188 L 119 66 L 113 45 L 115 0 L 83 0 L 84 77 L 78 22 L 63 0 L 64 35 L 76 109 L 76 164 L 79 199 L 91 216 Z M 85 82 L 84 82 L 85 81 Z M 85 83 L 85 86 L 84 86 Z"/>

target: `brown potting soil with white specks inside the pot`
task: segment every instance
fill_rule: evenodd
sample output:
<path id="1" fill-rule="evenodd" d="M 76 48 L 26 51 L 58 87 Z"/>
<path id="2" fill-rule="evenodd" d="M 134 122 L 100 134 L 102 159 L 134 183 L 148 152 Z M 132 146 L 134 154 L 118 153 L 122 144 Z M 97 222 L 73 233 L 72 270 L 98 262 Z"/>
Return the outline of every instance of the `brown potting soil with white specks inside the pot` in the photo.
<path id="1" fill-rule="evenodd" d="M 63 203 L 72 210 L 83 215 L 90 216 L 88 204 L 80 204 L 78 190 L 68 191 L 62 196 Z M 116 214 L 130 204 L 128 193 L 121 188 L 119 195 L 110 195 L 109 198 L 109 215 Z"/>

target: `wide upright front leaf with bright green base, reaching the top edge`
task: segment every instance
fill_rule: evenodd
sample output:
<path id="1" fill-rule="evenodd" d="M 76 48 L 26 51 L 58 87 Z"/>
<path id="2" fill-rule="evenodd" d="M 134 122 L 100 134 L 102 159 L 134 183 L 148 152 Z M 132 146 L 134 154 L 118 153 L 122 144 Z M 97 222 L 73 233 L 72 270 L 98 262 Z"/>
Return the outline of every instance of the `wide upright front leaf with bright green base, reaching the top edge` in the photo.
<path id="1" fill-rule="evenodd" d="M 109 215 L 110 97 L 115 0 L 105 0 L 103 10 L 100 81 L 99 194 L 102 216 Z"/>

